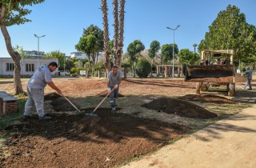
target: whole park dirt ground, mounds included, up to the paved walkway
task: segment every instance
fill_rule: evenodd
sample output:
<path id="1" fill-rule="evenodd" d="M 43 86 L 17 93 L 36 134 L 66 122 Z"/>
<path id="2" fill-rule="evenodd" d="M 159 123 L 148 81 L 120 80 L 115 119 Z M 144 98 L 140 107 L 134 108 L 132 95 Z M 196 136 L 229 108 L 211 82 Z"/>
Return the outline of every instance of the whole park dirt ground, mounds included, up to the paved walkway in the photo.
<path id="1" fill-rule="evenodd" d="M 22 80 L 23 88 L 26 82 Z M 105 79 L 54 78 L 54 83 L 82 113 L 47 86 L 45 110 L 53 119 L 38 121 L 34 114 L 3 130 L 0 134 L 10 131 L 0 152 L 3 167 L 122 165 L 182 138 L 198 123 L 215 121 L 230 106 L 230 114 L 237 113 L 241 102 L 255 98 L 254 90 L 239 87 L 235 98 L 226 96 L 225 87 L 199 96 L 194 82 L 129 78 L 120 86 L 117 111 L 111 112 L 106 100 L 95 112 L 98 116 L 90 116 L 86 114 L 106 95 Z M 0 80 L 0 90 L 14 93 L 11 80 Z"/>

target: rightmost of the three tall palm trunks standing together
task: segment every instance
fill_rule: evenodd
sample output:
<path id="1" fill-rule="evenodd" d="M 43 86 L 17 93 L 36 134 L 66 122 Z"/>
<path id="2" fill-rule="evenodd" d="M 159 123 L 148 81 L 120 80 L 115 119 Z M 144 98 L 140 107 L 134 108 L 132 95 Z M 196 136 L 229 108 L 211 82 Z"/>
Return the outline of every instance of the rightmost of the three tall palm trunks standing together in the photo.
<path id="1" fill-rule="evenodd" d="M 125 19 L 125 0 L 120 0 L 119 10 L 119 32 L 118 32 L 118 62 L 119 69 L 122 66 L 122 47 L 123 47 L 123 33 L 124 33 L 124 19 Z"/>

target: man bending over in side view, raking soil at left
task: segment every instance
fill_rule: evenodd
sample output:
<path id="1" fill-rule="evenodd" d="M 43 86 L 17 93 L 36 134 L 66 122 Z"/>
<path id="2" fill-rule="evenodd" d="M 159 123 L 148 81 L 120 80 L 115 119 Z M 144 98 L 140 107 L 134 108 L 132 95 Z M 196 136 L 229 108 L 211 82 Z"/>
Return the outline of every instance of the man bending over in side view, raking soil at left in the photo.
<path id="1" fill-rule="evenodd" d="M 27 83 L 27 96 L 28 99 L 25 105 L 25 111 L 23 119 L 30 118 L 31 108 L 35 105 L 39 119 L 50 119 L 50 116 L 45 114 L 44 104 L 44 89 L 46 85 L 49 85 L 52 89 L 56 90 L 58 94 L 62 94 L 62 91 L 54 85 L 51 78 L 51 72 L 56 70 L 58 64 L 56 62 L 50 62 L 48 66 L 41 66 L 36 70 L 33 76 Z"/>

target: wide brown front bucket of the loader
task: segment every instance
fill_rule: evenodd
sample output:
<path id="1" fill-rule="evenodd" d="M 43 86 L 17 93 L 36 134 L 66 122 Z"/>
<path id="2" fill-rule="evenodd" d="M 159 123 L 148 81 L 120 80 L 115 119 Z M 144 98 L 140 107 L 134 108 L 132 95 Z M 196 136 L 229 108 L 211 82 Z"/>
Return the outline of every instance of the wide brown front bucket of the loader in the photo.
<path id="1" fill-rule="evenodd" d="M 234 66 L 186 66 L 185 81 L 234 83 Z"/>

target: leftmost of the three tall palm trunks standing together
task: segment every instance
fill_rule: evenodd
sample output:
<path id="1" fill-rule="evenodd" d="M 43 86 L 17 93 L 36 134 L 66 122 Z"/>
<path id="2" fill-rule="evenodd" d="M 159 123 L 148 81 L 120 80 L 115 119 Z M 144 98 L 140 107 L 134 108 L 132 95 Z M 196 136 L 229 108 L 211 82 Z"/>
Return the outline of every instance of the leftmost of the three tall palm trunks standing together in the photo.
<path id="1" fill-rule="evenodd" d="M 111 70 L 110 66 L 110 38 L 109 38 L 109 23 L 107 18 L 107 3 L 106 0 L 102 0 L 102 18 L 104 26 L 104 52 L 105 52 L 105 70 L 108 74 Z"/>

